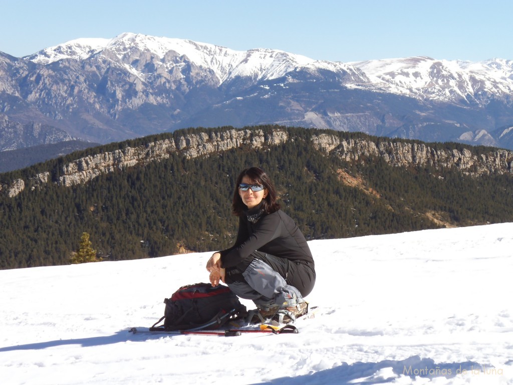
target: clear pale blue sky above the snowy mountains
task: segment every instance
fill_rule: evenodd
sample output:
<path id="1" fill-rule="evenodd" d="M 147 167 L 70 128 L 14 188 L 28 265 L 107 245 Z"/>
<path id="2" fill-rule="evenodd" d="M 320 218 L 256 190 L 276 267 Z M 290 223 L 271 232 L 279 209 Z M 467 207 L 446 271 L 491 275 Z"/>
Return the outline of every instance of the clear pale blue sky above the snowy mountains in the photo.
<path id="1" fill-rule="evenodd" d="M 0 51 L 123 32 L 352 62 L 513 59 L 510 0 L 0 0 Z"/>

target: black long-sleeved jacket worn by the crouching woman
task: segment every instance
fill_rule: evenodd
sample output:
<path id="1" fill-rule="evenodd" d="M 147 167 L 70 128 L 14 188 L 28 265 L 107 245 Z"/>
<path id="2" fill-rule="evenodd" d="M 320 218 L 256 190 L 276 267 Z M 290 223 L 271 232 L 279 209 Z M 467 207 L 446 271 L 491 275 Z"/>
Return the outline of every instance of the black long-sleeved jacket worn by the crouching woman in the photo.
<path id="1" fill-rule="evenodd" d="M 251 254 L 259 251 L 290 261 L 303 261 L 313 269 L 310 248 L 292 218 L 278 210 L 271 214 L 263 213 L 256 223 L 248 220 L 248 217 L 258 217 L 261 210 L 262 204 L 239 217 L 239 231 L 235 244 L 220 251 L 222 266 L 236 266 L 243 272 L 253 260 Z"/>

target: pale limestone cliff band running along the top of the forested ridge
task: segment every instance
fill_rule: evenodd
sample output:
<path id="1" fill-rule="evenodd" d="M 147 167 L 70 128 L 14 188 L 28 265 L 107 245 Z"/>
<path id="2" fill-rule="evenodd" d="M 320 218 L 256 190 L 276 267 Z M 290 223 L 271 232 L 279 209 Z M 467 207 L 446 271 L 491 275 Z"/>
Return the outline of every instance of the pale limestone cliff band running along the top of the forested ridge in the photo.
<path id="1" fill-rule="evenodd" d="M 165 139 L 77 159 L 62 166 L 61 177 L 56 183 L 68 187 L 86 183 L 116 169 L 169 158 L 171 153 L 179 153 L 187 159 L 192 159 L 241 146 L 258 149 L 263 146 L 279 145 L 289 140 L 294 138 L 286 130 L 264 133 L 259 129 L 229 129 L 222 132 L 184 134 L 174 140 Z M 439 169 L 453 168 L 470 176 L 512 172 L 513 152 L 507 150 L 491 150 L 484 155 L 476 155 L 468 149 L 435 149 L 426 144 L 375 142 L 368 139 L 345 140 L 337 134 L 328 133 L 315 134 L 311 141 L 318 151 L 338 156 L 346 161 L 357 162 L 381 157 L 396 167 L 428 165 Z M 49 171 L 46 171 L 30 178 L 32 188 L 48 183 L 49 175 Z M 0 192 L 14 197 L 25 188 L 25 185 L 25 181 L 17 179 L 10 185 L 0 184 Z"/>

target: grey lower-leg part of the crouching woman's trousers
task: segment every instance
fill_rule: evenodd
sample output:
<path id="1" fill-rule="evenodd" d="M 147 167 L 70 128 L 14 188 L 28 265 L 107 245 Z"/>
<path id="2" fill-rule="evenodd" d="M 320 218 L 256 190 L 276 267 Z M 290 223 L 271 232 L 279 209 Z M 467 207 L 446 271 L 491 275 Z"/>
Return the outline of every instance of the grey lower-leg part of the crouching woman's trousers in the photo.
<path id="1" fill-rule="evenodd" d="M 253 300 L 258 307 L 289 307 L 304 302 L 297 288 L 288 285 L 280 273 L 260 259 L 251 261 L 242 278 L 226 283 L 235 295 Z"/>

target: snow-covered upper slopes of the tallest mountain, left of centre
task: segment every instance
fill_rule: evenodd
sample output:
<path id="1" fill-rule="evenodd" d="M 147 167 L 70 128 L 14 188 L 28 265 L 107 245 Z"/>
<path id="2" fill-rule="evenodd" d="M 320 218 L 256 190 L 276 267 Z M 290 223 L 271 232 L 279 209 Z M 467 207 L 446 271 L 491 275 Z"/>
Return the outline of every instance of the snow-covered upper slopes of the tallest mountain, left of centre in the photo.
<path id="1" fill-rule="evenodd" d="M 144 53 L 133 61 L 134 56 Z M 37 52 L 28 59 L 47 65 L 63 59 L 85 60 L 93 55 L 108 57 L 122 63 L 124 67 L 141 80 L 149 75 L 172 71 L 189 62 L 205 71 L 212 71 L 219 79 L 219 85 L 234 78 L 250 78 L 255 81 L 277 79 L 298 68 L 323 68 L 329 71 L 354 71 L 343 63 L 321 62 L 302 55 L 280 50 L 252 49 L 235 51 L 207 43 L 197 43 L 177 38 L 154 37 L 134 33 L 123 33 L 111 40 L 78 39 Z M 182 58 L 177 60 L 176 58 Z M 154 69 L 144 66 L 158 61 Z"/>

